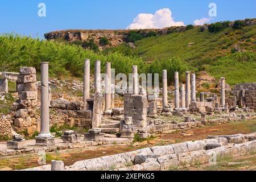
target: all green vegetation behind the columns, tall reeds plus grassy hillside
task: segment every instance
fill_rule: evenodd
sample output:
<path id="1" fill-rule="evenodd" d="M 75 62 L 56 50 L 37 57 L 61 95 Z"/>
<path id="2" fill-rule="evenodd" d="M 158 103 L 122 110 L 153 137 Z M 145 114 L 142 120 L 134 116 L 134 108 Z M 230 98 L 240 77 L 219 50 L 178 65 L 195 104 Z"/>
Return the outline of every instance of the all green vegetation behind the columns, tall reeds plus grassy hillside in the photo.
<path id="1" fill-rule="evenodd" d="M 58 42 L 33 39 L 13 34 L 0 36 L 0 71 L 17 72 L 19 67 L 32 66 L 40 73 L 40 62 L 49 61 L 52 77 L 82 76 L 83 60 L 91 60 L 91 72 L 95 60 L 112 62 L 115 73 L 131 73 L 132 65 L 138 65 L 143 73 L 159 73 L 167 69 L 168 81 L 174 72 L 207 71 L 211 76 L 226 77 L 228 84 L 255 82 L 256 80 L 256 25 L 237 20 L 217 22 L 202 27 L 188 25 L 185 31 L 169 31 L 167 35 L 155 32 L 129 31 L 127 39 L 135 43 L 107 48 L 100 51 L 93 41 Z M 102 38 L 101 44 L 108 44 Z M 85 49 L 86 48 L 86 49 Z M 89 49 L 88 49 L 89 48 Z M 161 78 L 160 78 L 161 79 Z"/>

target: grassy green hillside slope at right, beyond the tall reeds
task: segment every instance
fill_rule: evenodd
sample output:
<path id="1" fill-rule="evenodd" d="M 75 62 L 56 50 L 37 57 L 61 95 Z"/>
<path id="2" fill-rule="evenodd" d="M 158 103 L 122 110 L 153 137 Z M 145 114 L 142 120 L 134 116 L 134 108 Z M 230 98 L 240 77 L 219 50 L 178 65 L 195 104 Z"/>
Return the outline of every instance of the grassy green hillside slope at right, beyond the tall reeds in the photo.
<path id="1" fill-rule="evenodd" d="M 151 62 L 181 59 L 195 69 L 205 70 L 229 84 L 256 81 L 256 26 L 239 30 L 229 27 L 217 34 L 193 28 L 185 32 L 155 36 L 135 43 L 134 53 Z"/>

